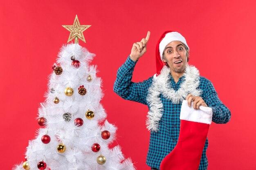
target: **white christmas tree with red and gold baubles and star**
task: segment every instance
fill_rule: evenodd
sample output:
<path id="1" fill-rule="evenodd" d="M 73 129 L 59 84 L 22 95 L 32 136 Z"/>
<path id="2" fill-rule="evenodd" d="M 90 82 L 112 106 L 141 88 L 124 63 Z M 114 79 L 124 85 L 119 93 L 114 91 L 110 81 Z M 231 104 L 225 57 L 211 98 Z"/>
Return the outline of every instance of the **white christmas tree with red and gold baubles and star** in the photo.
<path id="1" fill-rule="evenodd" d="M 76 43 L 64 45 L 58 54 L 38 109 L 42 128 L 29 141 L 26 161 L 13 170 L 135 170 L 120 146 L 109 148 L 117 128 L 106 120 L 100 104 L 101 78 L 90 65 L 95 55 L 78 44 L 85 26 L 76 16 L 74 28 L 69 27 L 76 30 L 70 31 L 69 41 L 73 37 Z"/>

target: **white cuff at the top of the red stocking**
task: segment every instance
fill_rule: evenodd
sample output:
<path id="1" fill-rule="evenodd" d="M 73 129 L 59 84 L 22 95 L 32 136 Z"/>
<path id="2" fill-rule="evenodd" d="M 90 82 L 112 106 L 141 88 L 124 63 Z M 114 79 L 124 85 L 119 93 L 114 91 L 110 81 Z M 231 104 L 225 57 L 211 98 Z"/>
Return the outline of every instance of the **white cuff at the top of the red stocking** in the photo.
<path id="1" fill-rule="evenodd" d="M 189 107 L 188 101 L 183 100 L 180 110 L 180 119 L 203 124 L 211 124 L 212 108 L 199 106 L 199 109 L 195 110 L 193 108 L 193 102 L 191 102 L 191 106 Z"/>

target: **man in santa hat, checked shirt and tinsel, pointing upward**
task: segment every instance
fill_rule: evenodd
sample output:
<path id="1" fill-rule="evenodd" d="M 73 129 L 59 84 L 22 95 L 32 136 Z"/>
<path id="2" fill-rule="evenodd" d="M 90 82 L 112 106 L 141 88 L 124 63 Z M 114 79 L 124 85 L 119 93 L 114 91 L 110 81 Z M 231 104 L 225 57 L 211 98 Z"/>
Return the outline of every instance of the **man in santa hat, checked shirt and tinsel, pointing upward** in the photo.
<path id="1" fill-rule="evenodd" d="M 184 99 L 189 106 L 193 103 L 194 109 L 211 107 L 212 121 L 216 124 L 227 123 L 231 113 L 218 98 L 213 84 L 200 76 L 197 68 L 187 64 L 189 46 L 175 31 L 164 32 L 157 43 L 157 74 L 143 82 L 131 82 L 135 64 L 146 52 L 149 37 L 148 31 L 146 38 L 133 44 L 128 59 L 117 72 L 114 91 L 124 99 L 148 105 L 146 125 L 150 130 L 150 144 L 146 163 L 151 170 L 157 170 L 177 144 Z M 204 144 L 199 170 L 207 170 L 207 147 L 208 140 Z"/>

